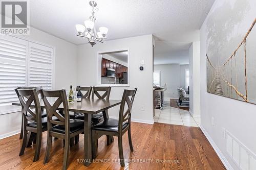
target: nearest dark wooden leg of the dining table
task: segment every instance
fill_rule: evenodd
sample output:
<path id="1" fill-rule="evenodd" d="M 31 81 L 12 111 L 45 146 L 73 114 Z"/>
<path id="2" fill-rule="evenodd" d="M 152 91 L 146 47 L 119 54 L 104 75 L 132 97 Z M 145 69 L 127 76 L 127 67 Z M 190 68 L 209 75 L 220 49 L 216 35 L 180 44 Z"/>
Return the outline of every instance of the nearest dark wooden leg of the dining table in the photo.
<path id="1" fill-rule="evenodd" d="M 92 115 L 84 114 L 84 165 L 89 166 L 92 163 Z"/>

